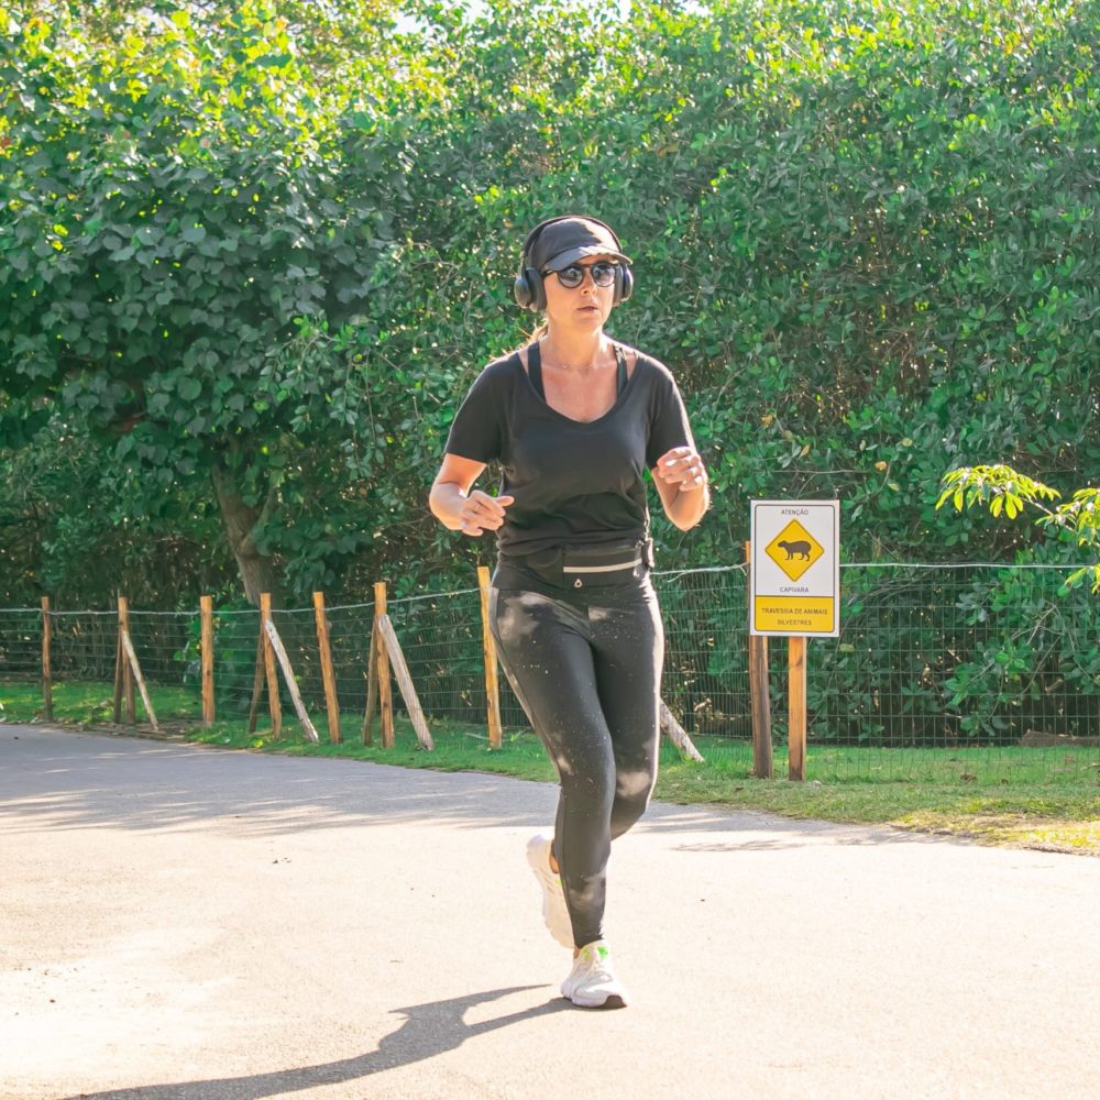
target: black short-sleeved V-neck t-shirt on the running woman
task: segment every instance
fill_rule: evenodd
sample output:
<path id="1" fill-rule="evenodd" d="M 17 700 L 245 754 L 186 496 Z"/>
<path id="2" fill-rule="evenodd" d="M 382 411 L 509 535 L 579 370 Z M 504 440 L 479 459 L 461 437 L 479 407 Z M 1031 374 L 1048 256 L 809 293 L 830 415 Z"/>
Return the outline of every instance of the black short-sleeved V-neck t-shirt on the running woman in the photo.
<path id="1" fill-rule="evenodd" d="M 449 454 L 501 463 L 501 493 L 516 498 L 497 531 L 502 554 L 647 537 L 642 474 L 684 446 L 694 443 L 675 380 L 640 352 L 615 405 L 588 424 L 547 405 L 518 352 L 496 360 L 447 440 Z"/>

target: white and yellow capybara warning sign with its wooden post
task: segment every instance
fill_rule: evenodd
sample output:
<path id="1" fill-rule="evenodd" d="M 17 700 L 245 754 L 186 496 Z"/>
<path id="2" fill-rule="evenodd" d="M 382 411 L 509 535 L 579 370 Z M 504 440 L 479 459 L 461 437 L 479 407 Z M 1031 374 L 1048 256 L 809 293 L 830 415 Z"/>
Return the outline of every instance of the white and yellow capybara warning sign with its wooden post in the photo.
<path id="1" fill-rule="evenodd" d="M 749 634 L 790 639 L 788 774 L 805 778 L 806 639 L 840 634 L 840 502 L 754 501 Z"/>

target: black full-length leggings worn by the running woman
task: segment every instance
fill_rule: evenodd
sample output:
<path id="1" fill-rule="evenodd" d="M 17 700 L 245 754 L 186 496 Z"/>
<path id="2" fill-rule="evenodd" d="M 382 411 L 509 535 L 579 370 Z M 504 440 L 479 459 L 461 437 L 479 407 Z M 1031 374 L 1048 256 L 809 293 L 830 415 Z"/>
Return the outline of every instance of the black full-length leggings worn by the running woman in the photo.
<path id="1" fill-rule="evenodd" d="M 657 780 L 664 631 L 648 578 L 559 595 L 494 587 L 501 664 L 558 769 L 553 854 L 579 947 L 603 938 L 610 843 Z"/>

